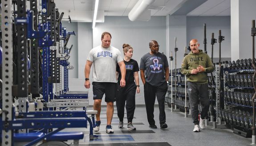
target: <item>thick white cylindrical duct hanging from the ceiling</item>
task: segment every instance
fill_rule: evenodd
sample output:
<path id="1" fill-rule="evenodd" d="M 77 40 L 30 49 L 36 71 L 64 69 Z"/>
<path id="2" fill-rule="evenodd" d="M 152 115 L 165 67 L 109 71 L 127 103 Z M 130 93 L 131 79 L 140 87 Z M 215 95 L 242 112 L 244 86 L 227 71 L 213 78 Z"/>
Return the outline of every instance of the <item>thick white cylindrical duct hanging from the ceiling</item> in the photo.
<path id="1" fill-rule="evenodd" d="M 134 8 L 128 14 L 128 17 L 131 21 L 135 21 L 138 19 L 143 12 L 150 7 L 151 4 L 154 3 L 155 0 L 139 0 L 135 5 Z"/>

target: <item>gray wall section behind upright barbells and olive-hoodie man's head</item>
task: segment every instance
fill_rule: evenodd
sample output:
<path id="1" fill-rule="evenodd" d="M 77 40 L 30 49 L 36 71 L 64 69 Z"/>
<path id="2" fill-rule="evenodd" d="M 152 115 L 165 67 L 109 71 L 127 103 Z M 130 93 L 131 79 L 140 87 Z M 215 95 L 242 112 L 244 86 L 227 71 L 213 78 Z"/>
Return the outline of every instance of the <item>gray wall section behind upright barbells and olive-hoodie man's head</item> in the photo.
<path id="1" fill-rule="evenodd" d="M 225 40 L 221 43 L 221 58 L 231 58 L 230 16 L 187 17 L 187 46 L 191 39 L 198 39 L 199 48 L 204 50 L 203 24 L 206 24 L 207 54 L 211 56 L 211 33 L 213 32 L 215 39 L 217 39 L 217 43 L 214 44 L 213 57 L 219 57 L 218 36 L 219 30 L 221 30 L 222 36 L 225 37 Z"/>

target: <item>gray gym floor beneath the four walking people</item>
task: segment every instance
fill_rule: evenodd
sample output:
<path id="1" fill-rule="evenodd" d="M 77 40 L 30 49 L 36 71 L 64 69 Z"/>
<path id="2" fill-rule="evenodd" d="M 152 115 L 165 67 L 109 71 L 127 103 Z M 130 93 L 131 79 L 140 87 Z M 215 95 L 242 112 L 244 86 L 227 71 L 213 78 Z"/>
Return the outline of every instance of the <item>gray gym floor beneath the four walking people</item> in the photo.
<path id="1" fill-rule="evenodd" d="M 88 108 L 91 110 L 92 108 Z M 182 112 L 171 112 L 166 107 L 168 128 L 160 129 L 158 107 L 154 107 L 154 116 L 157 129 L 150 129 L 146 118 L 146 108 L 136 107 L 134 114 L 134 127 L 136 131 L 126 129 L 127 119 L 124 119 L 124 128 L 118 128 L 116 107 L 112 126 L 114 134 L 106 134 L 106 108 L 102 108 L 102 124 L 98 133 L 99 138 L 89 141 L 89 124 L 87 129 L 65 129 L 65 131 L 83 131 L 84 139 L 79 141 L 79 146 L 250 146 L 252 138 L 244 138 L 233 134 L 230 129 L 212 129 L 207 126 L 199 133 L 193 132 L 194 124 L 191 118 L 184 118 Z M 126 117 L 126 115 L 125 115 Z M 97 133 L 95 133 L 97 134 Z M 72 141 L 68 142 L 71 143 Z M 143 142 L 143 143 L 137 143 Z M 158 143 L 153 143 L 158 142 Z M 160 142 L 160 143 L 159 143 Z M 72 146 L 72 145 L 71 145 Z"/>

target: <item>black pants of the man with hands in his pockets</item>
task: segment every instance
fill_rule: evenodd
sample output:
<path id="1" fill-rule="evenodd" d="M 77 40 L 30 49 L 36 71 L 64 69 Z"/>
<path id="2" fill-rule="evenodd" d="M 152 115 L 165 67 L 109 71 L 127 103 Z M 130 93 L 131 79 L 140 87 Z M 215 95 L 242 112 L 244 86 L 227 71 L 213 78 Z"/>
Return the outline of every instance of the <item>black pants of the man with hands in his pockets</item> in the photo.
<path id="1" fill-rule="evenodd" d="M 146 115 L 147 121 L 150 125 L 155 124 L 154 121 L 154 102 L 155 96 L 158 101 L 159 107 L 159 121 L 161 123 L 166 122 L 165 111 L 164 111 L 164 102 L 165 102 L 165 95 L 168 90 L 167 82 L 164 82 L 160 86 L 152 86 L 149 83 L 144 84 L 144 99 L 146 104 Z"/>

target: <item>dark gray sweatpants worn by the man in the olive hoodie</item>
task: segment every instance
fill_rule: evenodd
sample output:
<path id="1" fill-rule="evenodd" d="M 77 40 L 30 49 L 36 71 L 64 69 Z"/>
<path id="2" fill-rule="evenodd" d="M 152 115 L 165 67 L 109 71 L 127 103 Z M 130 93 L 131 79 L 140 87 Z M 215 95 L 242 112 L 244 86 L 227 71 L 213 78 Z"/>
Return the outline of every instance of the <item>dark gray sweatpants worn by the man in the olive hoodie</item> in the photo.
<path id="1" fill-rule="evenodd" d="M 191 114 L 192 119 L 195 125 L 199 124 L 198 121 L 198 104 L 199 104 L 199 98 L 202 105 L 202 111 L 200 113 L 200 116 L 202 119 L 208 118 L 208 110 L 209 110 L 209 92 L 208 92 L 208 83 L 206 84 L 199 84 L 199 83 L 193 83 L 193 82 L 187 82 L 188 86 L 188 96 L 189 96 L 189 104 L 191 107 Z"/>

